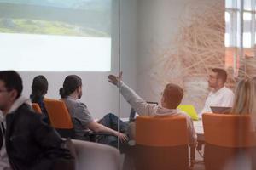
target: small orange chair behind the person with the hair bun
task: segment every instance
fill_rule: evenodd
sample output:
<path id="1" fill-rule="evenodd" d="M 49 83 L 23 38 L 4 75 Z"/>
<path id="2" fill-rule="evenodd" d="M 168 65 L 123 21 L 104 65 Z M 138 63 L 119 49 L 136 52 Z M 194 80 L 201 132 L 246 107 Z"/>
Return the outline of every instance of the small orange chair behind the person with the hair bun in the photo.
<path id="1" fill-rule="evenodd" d="M 44 105 L 48 112 L 51 126 L 55 127 L 62 138 L 73 138 L 73 122 L 65 103 L 57 99 L 44 99 Z"/>

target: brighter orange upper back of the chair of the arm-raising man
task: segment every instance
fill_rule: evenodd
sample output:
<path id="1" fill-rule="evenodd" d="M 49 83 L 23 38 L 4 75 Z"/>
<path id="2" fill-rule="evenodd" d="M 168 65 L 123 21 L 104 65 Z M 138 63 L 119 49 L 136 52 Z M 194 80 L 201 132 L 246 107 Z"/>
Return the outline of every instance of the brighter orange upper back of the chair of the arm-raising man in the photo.
<path id="1" fill-rule="evenodd" d="M 137 116 L 136 144 L 177 146 L 188 144 L 186 118 L 183 116 Z"/>

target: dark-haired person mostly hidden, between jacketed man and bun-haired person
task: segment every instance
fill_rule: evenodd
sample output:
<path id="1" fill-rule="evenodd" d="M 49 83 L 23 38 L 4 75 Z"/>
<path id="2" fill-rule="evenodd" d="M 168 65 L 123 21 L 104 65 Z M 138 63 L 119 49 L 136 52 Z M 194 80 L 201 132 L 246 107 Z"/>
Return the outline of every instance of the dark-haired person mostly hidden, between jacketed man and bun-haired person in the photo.
<path id="1" fill-rule="evenodd" d="M 32 94 L 30 95 L 30 99 L 32 103 L 37 103 L 40 106 L 44 116 L 48 118 L 48 113 L 44 106 L 44 95 L 47 94 L 47 90 L 48 90 L 47 79 L 43 75 L 34 77 L 31 88 L 32 88 Z"/>

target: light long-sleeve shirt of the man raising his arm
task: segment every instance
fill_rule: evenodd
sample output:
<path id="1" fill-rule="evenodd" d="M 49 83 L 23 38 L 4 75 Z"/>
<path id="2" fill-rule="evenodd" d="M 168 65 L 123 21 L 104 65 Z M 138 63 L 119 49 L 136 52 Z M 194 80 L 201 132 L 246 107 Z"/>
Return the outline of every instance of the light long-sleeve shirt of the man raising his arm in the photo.
<path id="1" fill-rule="evenodd" d="M 197 135 L 192 119 L 183 111 L 178 109 L 167 109 L 159 105 L 149 105 L 144 99 L 142 99 L 134 90 L 125 85 L 124 82 L 120 82 L 120 93 L 124 96 L 125 100 L 131 105 L 131 107 L 142 116 L 184 116 L 187 120 L 187 128 L 189 132 L 189 143 L 195 144 Z"/>

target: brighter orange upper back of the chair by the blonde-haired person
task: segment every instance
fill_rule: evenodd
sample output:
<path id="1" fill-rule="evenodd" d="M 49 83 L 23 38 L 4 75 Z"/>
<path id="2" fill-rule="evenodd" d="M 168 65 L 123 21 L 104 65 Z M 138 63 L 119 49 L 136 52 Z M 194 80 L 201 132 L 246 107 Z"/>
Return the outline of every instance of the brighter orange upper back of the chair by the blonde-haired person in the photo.
<path id="1" fill-rule="evenodd" d="M 237 148 L 256 145 L 250 116 L 205 113 L 202 120 L 208 144 Z"/>

